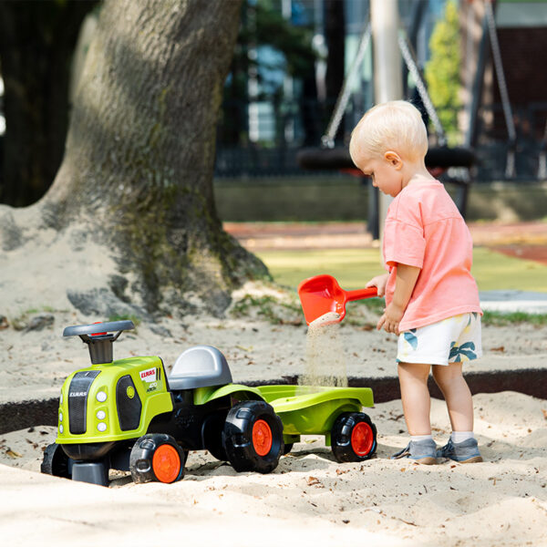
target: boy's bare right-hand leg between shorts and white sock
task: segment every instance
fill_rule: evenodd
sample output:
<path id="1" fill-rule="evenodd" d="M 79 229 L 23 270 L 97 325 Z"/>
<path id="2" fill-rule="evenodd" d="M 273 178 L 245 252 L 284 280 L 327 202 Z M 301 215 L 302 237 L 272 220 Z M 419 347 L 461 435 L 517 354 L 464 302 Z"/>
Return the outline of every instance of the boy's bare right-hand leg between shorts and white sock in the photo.
<path id="1" fill-rule="evenodd" d="M 472 431 L 473 399 L 462 375 L 461 363 L 434 365 L 433 378 L 447 402 L 452 431 Z"/>

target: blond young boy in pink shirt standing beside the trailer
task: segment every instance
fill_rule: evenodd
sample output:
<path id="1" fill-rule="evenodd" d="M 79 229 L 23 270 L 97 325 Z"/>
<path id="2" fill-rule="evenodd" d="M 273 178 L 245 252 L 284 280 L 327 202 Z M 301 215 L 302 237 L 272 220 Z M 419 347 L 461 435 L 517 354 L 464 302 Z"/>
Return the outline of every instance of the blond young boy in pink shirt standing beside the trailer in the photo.
<path id="1" fill-rule="evenodd" d="M 482 461 L 473 435 L 473 403 L 462 361 L 481 356 L 477 284 L 470 274 L 470 232 L 444 186 L 428 172 L 427 131 L 417 108 L 391 101 L 368 110 L 349 151 L 372 183 L 394 197 L 384 228 L 388 274 L 366 286 L 386 296 L 377 328 L 398 335 L 397 363 L 410 442 L 392 458 L 437 463 Z M 431 436 L 428 376 L 442 391 L 452 434 L 437 449 Z"/>

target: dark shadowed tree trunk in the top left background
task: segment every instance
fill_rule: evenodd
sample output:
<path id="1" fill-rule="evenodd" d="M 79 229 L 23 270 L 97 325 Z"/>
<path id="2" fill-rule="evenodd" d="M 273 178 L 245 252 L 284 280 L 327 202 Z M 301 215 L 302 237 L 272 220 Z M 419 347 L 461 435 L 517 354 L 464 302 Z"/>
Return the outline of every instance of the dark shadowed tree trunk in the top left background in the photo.
<path id="1" fill-rule="evenodd" d="M 0 2 L 0 58 L 5 83 L 5 162 L 0 201 L 40 199 L 63 159 L 70 59 L 95 0 Z"/>

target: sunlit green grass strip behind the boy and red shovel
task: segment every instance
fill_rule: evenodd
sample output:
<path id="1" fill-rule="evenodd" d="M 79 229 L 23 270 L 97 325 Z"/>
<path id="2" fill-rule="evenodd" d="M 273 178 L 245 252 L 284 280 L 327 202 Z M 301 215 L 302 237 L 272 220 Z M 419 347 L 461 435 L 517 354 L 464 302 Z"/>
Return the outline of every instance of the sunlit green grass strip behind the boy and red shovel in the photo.
<path id="1" fill-rule="evenodd" d="M 262 251 L 257 253 L 279 284 L 296 288 L 305 278 L 331 274 L 344 289 L 363 288 L 383 269 L 378 249 Z M 519 289 L 547 292 L 547 266 L 477 247 L 473 275 L 480 291 Z"/>

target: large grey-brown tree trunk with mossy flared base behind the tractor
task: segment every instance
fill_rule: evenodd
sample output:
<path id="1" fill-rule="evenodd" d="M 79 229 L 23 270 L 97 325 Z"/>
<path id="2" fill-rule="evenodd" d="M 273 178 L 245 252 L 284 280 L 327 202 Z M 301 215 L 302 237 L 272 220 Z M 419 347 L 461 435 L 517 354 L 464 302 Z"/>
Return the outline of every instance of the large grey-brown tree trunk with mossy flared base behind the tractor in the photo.
<path id="1" fill-rule="evenodd" d="M 80 253 L 99 244 L 104 263 L 86 258 L 86 275 L 97 267 L 108 286 L 68 287 L 81 311 L 104 309 L 90 304 L 102 298 L 150 314 L 188 311 L 196 301 L 222 312 L 233 288 L 267 275 L 222 231 L 212 194 L 239 14 L 236 1 L 103 6 L 54 184 L 18 218 L 0 209 L 5 249 L 26 243 L 33 226 L 53 229 L 54 242 L 65 237 Z"/>

